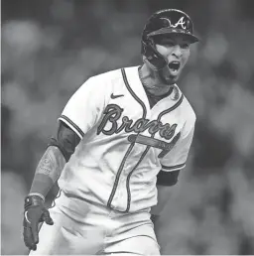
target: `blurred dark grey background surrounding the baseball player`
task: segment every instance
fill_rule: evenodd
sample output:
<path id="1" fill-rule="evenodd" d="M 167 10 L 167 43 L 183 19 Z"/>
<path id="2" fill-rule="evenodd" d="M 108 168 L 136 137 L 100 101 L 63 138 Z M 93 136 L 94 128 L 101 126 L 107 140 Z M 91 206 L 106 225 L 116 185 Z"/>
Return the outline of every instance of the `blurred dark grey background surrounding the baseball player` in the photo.
<path id="1" fill-rule="evenodd" d="M 28 253 L 24 197 L 64 104 L 88 76 L 142 64 L 144 24 L 163 8 L 189 13 L 201 42 L 178 83 L 197 123 L 156 228 L 162 253 L 254 254 L 253 1 L 1 2 L 2 254 Z"/>

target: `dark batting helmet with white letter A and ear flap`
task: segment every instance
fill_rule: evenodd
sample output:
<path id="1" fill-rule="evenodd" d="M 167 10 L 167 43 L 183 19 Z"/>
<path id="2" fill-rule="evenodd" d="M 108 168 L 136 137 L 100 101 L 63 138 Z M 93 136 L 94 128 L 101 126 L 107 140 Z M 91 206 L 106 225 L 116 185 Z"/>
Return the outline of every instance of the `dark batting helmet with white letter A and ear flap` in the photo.
<path id="1" fill-rule="evenodd" d="M 163 35 L 182 35 L 191 44 L 198 42 L 193 34 L 191 18 L 183 11 L 166 9 L 154 13 L 147 21 L 142 33 L 141 54 L 155 69 L 162 69 L 168 61 L 155 48 L 155 39 Z"/>

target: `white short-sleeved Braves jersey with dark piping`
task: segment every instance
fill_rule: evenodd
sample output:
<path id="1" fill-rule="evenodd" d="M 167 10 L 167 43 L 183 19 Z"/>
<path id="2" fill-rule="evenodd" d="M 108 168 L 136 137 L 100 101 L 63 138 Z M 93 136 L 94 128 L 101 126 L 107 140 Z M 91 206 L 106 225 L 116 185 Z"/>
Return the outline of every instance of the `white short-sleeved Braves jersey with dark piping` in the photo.
<path id="1" fill-rule="evenodd" d="M 81 139 L 60 189 L 132 212 L 157 203 L 160 170 L 185 167 L 195 114 L 181 90 L 177 100 L 169 95 L 151 109 L 138 66 L 131 66 L 89 78 L 59 119 Z"/>

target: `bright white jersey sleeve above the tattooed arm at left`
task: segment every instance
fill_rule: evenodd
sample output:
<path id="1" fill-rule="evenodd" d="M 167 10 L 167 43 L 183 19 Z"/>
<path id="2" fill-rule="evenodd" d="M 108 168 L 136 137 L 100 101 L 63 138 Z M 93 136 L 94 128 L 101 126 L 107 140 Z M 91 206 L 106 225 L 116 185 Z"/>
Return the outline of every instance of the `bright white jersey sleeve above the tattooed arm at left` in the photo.
<path id="1" fill-rule="evenodd" d="M 105 105 L 105 84 L 87 79 L 70 97 L 59 120 L 82 139 L 98 121 Z"/>

